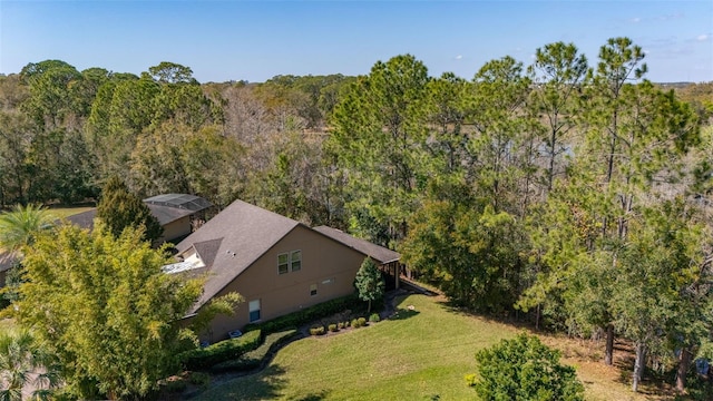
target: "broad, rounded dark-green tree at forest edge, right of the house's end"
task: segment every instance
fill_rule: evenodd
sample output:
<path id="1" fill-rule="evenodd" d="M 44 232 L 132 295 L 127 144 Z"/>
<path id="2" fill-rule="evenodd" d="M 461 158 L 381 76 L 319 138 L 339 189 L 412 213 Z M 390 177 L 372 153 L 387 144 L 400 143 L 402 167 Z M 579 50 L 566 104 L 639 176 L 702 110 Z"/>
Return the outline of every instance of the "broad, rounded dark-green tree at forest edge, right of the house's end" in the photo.
<path id="1" fill-rule="evenodd" d="M 455 304 L 484 312 L 512 305 L 521 265 L 512 215 L 496 212 L 461 183 L 430 188 L 409 225 L 400 246 L 404 263 Z"/>

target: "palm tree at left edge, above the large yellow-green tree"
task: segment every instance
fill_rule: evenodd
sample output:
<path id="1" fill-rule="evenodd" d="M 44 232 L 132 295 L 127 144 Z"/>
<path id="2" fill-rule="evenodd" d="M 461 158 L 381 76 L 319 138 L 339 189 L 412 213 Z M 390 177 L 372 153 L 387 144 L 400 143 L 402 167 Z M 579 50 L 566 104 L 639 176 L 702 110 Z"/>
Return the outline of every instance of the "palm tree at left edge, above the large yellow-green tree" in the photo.
<path id="1" fill-rule="evenodd" d="M 11 212 L 0 214 L 0 247 L 13 252 L 30 245 L 53 222 L 55 217 L 42 206 L 16 205 Z"/>

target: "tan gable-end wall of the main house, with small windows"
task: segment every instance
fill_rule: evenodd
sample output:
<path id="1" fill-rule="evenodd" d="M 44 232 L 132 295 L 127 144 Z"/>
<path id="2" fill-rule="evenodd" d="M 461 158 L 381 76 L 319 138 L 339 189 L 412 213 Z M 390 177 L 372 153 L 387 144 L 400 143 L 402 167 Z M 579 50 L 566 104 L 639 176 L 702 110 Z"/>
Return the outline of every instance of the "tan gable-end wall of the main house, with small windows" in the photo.
<path id="1" fill-rule="evenodd" d="M 301 268 L 279 274 L 279 255 L 293 251 L 301 251 Z M 260 300 L 260 322 L 264 322 L 349 295 L 354 292 L 354 277 L 363 261 L 362 253 L 297 226 L 218 294 L 236 291 L 245 302 L 235 315 L 214 319 L 204 338 L 209 342 L 219 341 L 227 338 L 229 331 L 251 323 L 251 301 Z M 314 286 L 316 294 L 312 295 Z"/>

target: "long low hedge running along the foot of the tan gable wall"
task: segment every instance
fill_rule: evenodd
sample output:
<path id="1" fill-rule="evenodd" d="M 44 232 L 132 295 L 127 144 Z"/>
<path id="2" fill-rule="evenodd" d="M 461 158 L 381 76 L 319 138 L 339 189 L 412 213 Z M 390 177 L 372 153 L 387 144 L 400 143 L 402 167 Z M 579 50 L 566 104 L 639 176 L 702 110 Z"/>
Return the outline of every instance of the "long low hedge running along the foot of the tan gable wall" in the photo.
<path id="1" fill-rule="evenodd" d="M 299 329 L 301 325 L 307 324 L 318 319 L 322 319 L 348 309 L 359 309 L 363 305 L 355 294 L 346 295 L 271 320 L 270 322 L 248 324 L 245 326 L 245 331 L 260 329 L 264 335 L 267 335 L 284 330 Z"/>

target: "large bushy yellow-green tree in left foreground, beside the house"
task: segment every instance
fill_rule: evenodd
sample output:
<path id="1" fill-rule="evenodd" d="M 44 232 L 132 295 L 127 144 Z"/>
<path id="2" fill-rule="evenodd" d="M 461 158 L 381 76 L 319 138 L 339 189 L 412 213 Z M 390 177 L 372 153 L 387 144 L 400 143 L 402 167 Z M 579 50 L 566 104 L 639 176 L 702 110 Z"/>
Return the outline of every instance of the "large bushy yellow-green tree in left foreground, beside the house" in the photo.
<path id="1" fill-rule="evenodd" d="M 91 233 L 64 225 L 23 251 L 28 281 L 14 315 L 58 358 L 74 397 L 141 399 L 195 346 L 180 321 L 203 281 L 164 273 L 165 252 L 140 229 L 115 237 L 101 224 Z"/>

